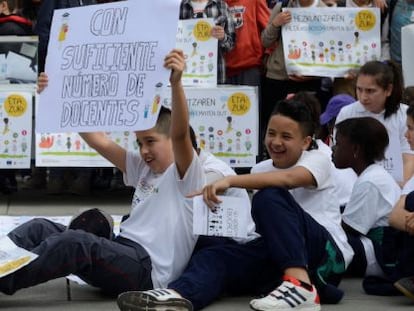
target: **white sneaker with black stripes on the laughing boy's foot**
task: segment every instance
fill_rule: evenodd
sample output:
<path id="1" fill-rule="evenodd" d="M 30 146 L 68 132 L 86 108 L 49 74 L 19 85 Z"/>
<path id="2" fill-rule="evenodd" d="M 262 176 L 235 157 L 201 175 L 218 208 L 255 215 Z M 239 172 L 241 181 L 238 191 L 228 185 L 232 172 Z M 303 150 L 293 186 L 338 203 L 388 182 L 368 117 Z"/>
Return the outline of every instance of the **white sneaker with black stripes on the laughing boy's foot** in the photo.
<path id="1" fill-rule="evenodd" d="M 264 298 L 253 299 L 250 307 L 257 311 L 319 311 L 321 305 L 315 286 L 312 291 L 302 287 L 298 280 L 285 278 L 273 292 Z"/>

